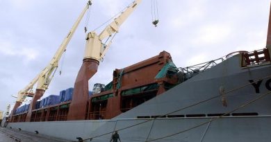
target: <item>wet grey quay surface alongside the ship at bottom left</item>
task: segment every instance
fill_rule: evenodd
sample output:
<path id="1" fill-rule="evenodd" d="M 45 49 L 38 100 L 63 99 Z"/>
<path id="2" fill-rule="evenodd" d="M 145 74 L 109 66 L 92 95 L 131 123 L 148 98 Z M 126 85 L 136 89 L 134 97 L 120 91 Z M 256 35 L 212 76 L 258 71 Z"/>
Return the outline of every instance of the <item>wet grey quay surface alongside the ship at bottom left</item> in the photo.
<path id="1" fill-rule="evenodd" d="M 35 132 L 25 132 L 8 127 L 0 127 L 0 142 L 64 142 L 65 139 L 58 139 L 42 134 L 35 134 Z"/>

